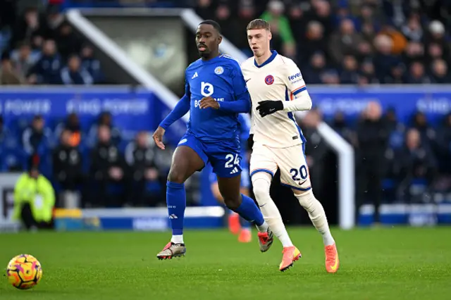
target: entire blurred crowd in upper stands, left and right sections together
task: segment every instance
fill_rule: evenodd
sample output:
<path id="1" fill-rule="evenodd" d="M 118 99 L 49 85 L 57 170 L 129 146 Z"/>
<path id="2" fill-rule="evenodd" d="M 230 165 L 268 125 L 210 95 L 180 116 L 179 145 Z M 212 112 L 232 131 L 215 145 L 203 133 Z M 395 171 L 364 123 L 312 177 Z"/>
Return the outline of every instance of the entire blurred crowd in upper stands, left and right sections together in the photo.
<path id="1" fill-rule="evenodd" d="M 273 49 L 294 59 L 308 84 L 451 82 L 450 0 L 49 0 L 44 10 L 18 2 L 0 1 L 3 84 L 102 83 L 92 46 L 60 13 L 70 4 L 192 7 L 249 56 L 245 27 L 263 18 Z"/>

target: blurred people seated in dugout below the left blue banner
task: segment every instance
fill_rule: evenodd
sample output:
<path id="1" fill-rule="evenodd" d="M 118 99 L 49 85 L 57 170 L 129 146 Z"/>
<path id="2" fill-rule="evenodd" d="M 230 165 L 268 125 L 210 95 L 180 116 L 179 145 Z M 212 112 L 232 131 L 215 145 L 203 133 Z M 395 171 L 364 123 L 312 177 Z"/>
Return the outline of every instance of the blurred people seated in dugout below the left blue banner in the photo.
<path id="1" fill-rule="evenodd" d="M 75 113 L 61 122 L 41 115 L 30 123 L 17 120 L 4 126 L 0 121 L 0 170 L 39 170 L 54 186 L 57 206 L 166 204 L 171 146 L 156 151 L 148 132 L 137 132 L 131 140 L 123 137 L 110 113 L 101 113 L 88 127 Z"/>

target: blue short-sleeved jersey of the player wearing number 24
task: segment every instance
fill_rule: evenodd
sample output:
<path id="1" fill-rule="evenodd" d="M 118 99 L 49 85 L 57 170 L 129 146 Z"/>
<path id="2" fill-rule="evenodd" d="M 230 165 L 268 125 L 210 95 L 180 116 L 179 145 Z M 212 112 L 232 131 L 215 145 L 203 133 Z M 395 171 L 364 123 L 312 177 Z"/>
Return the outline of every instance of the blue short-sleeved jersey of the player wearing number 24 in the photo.
<path id="1" fill-rule="evenodd" d="M 240 65 L 227 55 L 209 61 L 194 61 L 185 72 L 185 95 L 190 97 L 190 120 L 187 132 L 202 142 L 236 139 L 239 134 L 238 113 L 226 108 L 226 102 L 249 99 Z M 206 96 L 213 97 L 221 108 L 199 108 Z"/>

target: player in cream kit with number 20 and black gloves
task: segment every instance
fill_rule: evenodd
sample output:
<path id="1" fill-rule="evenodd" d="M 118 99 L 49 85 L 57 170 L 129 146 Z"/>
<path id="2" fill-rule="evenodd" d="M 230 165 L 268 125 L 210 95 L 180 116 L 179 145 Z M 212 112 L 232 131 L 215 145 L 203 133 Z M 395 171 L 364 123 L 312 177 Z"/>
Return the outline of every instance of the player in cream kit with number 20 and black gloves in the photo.
<path id="1" fill-rule="evenodd" d="M 252 99 L 250 134 L 253 135 L 254 146 L 250 173 L 254 194 L 266 223 L 283 244 L 279 269 L 290 268 L 301 254 L 292 244 L 280 212 L 269 194 L 271 180 L 278 169 L 281 184 L 292 189 L 299 204 L 309 213 L 314 227 L 321 233 L 326 270 L 335 273 L 339 266 L 337 248 L 324 208 L 311 190 L 304 155 L 306 139 L 292 113 L 311 109 L 311 98 L 304 79 L 290 58 L 271 51 L 271 29 L 265 20 L 253 20 L 247 25 L 247 39 L 254 53 L 254 57 L 241 65 Z"/>

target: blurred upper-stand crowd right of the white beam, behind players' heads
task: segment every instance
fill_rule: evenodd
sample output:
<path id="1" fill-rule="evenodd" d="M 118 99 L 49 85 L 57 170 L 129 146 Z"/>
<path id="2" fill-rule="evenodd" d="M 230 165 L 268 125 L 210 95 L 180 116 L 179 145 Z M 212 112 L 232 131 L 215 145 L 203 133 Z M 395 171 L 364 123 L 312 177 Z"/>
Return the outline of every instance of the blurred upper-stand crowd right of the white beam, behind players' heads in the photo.
<path id="1" fill-rule="evenodd" d="M 198 0 L 195 9 L 249 56 L 246 25 L 267 20 L 272 48 L 307 84 L 451 82 L 448 0 Z"/>

